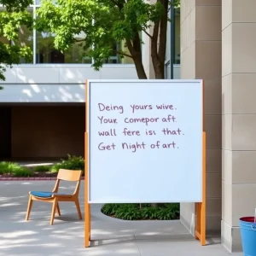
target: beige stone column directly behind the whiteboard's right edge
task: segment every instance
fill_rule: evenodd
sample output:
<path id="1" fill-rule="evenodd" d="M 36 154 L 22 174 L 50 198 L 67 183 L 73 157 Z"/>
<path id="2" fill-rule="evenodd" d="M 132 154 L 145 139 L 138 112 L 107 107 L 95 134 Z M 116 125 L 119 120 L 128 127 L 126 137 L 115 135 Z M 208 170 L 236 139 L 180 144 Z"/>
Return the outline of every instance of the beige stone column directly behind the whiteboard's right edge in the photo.
<path id="1" fill-rule="evenodd" d="M 181 0 L 181 79 L 205 81 L 207 234 L 220 233 L 221 0 Z M 194 234 L 195 203 L 181 204 L 181 221 Z"/>

